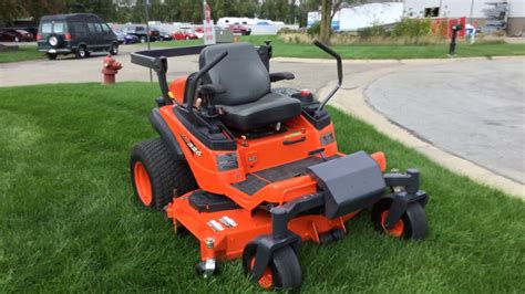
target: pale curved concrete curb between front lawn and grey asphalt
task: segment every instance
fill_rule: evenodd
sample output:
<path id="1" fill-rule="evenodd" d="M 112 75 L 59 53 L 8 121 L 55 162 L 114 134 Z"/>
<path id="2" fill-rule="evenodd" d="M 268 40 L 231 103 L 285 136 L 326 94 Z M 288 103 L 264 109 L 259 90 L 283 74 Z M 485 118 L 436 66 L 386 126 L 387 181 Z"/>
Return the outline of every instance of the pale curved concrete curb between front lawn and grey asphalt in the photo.
<path id="1" fill-rule="evenodd" d="M 333 62 L 333 61 L 332 61 Z M 447 62 L 441 60 L 441 62 Z M 421 63 L 420 63 L 421 64 Z M 406 64 L 408 69 L 410 65 Z M 344 85 L 343 87 L 358 86 L 354 90 L 341 88 L 330 102 L 330 105 L 351 114 L 368 124 L 372 125 L 378 132 L 388 137 L 401 141 L 405 146 L 415 149 L 416 151 L 425 155 L 434 162 L 461 175 L 470 178 L 471 180 L 478 182 L 484 186 L 501 189 L 511 196 L 525 200 L 525 186 L 515 182 L 506 177 L 500 176 L 482 166 L 478 166 L 464 158 L 450 154 L 442 150 L 409 133 L 406 129 L 399 125 L 392 124 L 387 117 L 375 112 L 370 107 L 366 101 L 364 90 L 366 87 L 378 80 L 379 77 L 390 74 L 399 70 L 397 67 L 382 69 L 379 71 L 361 73 L 357 76 L 352 76 L 351 84 Z M 320 92 L 319 96 L 323 97 L 334 86 L 336 81 L 329 83 Z"/>

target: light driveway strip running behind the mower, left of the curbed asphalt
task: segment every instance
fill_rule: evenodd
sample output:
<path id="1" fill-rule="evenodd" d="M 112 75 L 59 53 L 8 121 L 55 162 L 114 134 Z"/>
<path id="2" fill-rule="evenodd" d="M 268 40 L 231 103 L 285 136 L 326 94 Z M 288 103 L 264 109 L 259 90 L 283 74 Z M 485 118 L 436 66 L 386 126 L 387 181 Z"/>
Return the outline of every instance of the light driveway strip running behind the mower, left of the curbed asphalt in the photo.
<path id="1" fill-rule="evenodd" d="M 115 59 L 124 66 L 116 76 L 116 81 L 150 81 L 148 70 L 130 62 L 130 53 L 144 50 L 145 45 L 121 45 L 120 54 Z M 97 53 L 85 60 L 76 60 L 72 55 L 59 56 L 55 61 L 28 61 L 0 64 L 0 86 L 50 84 L 50 83 L 80 83 L 102 81 L 102 60 L 105 54 Z M 362 71 L 373 71 L 383 65 L 367 62 L 346 64 L 344 74 L 352 76 Z M 197 56 L 183 56 L 168 60 L 168 80 L 188 75 L 198 70 Z M 337 78 L 334 61 L 302 62 L 295 60 L 271 62 L 271 72 L 288 71 L 296 75 L 291 82 L 280 82 L 276 86 L 292 86 L 309 88 L 317 92 L 329 81 Z M 155 73 L 153 73 L 156 82 Z"/>

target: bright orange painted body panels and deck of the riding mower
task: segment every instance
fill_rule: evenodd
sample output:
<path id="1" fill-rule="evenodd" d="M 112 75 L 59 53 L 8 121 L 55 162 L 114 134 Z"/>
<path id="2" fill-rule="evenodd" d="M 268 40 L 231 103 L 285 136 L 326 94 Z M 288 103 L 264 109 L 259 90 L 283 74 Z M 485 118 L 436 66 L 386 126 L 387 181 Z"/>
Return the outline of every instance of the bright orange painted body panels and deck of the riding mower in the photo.
<path id="1" fill-rule="evenodd" d="M 184 93 L 185 83 L 185 78 L 177 78 L 169 86 L 173 98 L 181 103 L 181 97 L 183 97 L 181 93 Z M 239 206 L 238 209 L 218 212 L 198 212 L 188 201 L 192 192 L 174 198 L 174 201 L 168 204 L 167 217 L 173 220 L 175 228 L 184 225 L 200 241 L 202 260 L 239 258 L 249 241 L 260 234 L 270 234 L 271 214 L 266 210 L 257 209 L 259 206 L 265 203 L 281 206 L 298 197 L 317 192 L 317 181 L 308 175 L 275 182 L 259 177 L 268 183 L 251 196 L 231 183 L 246 180 L 248 175 L 258 177 L 254 172 L 308 158 L 311 151 L 320 148 L 323 148 L 323 156 L 327 158 L 342 155 L 337 148 L 332 124 L 322 129 L 316 129 L 303 116 L 286 122 L 286 132 L 282 133 L 255 139 L 230 138 L 236 141 L 236 150 L 212 150 L 184 127 L 175 117 L 173 107 L 179 106 L 163 106 L 159 108 L 159 114 L 178 141 L 199 188 L 207 192 L 224 195 Z M 321 139 L 327 136 L 332 139 L 330 141 Z M 296 140 L 298 143 L 287 144 Z M 188 145 L 194 145 L 195 148 Z M 233 153 L 237 156 L 238 168 L 219 171 L 217 156 Z M 384 155 L 378 154 L 373 158 L 381 169 L 384 169 Z M 328 219 L 322 214 L 301 216 L 290 220 L 288 229 L 300 235 L 302 240 L 319 242 L 320 233 L 334 228 L 346 230 L 344 222 L 358 212 L 336 219 Z M 237 225 L 216 231 L 208 224 L 209 221 L 217 221 L 223 217 L 233 219 Z M 215 240 L 213 249 L 206 246 L 205 241 L 209 238 Z"/>

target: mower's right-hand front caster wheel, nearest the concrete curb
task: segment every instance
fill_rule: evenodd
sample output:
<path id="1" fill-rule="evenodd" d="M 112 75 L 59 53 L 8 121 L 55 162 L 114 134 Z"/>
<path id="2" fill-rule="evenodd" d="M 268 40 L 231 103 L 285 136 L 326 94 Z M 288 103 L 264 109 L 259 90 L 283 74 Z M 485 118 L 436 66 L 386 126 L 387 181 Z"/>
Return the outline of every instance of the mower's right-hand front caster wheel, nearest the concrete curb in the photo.
<path id="1" fill-rule="evenodd" d="M 372 221 L 375 230 L 395 238 L 423 239 L 426 235 L 426 216 L 423 207 L 419 202 L 409 203 L 401 219 L 389 230 L 385 228 L 387 217 L 392 202 L 389 200 L 381 200 L 373 206 Z"/>

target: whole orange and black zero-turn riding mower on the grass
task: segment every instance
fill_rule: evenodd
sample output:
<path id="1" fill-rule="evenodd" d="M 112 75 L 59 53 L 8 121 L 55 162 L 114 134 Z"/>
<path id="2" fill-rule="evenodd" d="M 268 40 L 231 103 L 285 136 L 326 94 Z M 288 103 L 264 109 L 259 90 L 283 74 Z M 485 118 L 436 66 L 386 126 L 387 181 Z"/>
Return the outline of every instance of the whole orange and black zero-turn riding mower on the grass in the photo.
<path id="1" fill-rule="evenodd" d="M 200 243 L 197 273 L 217 273 L 218 262 L 241 258 L 265 288 L 300 286 L 301 242 L 327 243 L 346 234 L 346 222 L 371 209 L 377 230 L 421 239 L 428 195 L 419 171 L 389 172 L 382 153 L 338 151 L 330 115 L 308 91 L 272 90 L 292 80 L 270 73 L 271 45 L 199 45 L 132 54 L 153 69 L 162 97 L 150 120 L 159 138 L 137 144 L 131 174 L 137 199 L 165 210 L 175 230 Z M 199 67 L 166 82 L 167 57 L 199 54 Z"/>

